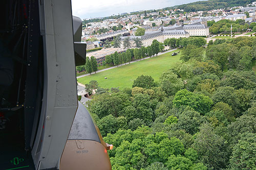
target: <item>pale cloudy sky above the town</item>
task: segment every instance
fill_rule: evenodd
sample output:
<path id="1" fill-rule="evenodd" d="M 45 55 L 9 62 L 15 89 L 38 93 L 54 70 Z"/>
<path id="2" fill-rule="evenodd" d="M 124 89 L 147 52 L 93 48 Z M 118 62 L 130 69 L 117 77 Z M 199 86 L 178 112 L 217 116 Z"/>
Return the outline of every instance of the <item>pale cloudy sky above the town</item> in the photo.
<path id="1" fill-rule="evenodd" d="M 81 19 L 150 10 L 187 4 L 199 0 L 71 0 L 73 15 Z M 201 0 L 202 1 L 202 0 Z M 205 0 L 203 0 L 205 1 Z"/>

